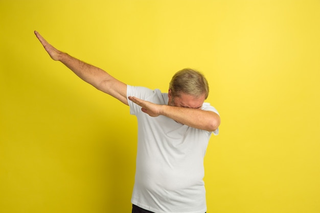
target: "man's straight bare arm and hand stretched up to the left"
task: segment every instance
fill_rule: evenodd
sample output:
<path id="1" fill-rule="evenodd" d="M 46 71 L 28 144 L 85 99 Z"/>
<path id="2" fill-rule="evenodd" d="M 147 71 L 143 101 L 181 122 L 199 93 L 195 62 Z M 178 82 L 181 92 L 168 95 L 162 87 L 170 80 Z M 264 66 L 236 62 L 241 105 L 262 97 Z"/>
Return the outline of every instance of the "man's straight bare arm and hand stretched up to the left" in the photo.
<path id="1" fill-rule="evenodd" d="M 38 32 L 35 31 L 34 33 L 53 60 L 62 62 L 85 82 L 128 105 L 126 84 L 96 66 L 87 64 L 55 49 Z"/>

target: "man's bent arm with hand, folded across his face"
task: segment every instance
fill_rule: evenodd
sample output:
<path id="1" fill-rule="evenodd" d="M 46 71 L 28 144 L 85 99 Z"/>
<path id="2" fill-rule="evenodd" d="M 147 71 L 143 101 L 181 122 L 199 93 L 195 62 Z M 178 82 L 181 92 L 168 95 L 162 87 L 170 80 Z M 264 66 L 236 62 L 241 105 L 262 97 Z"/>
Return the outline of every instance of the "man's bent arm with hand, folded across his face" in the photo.
<path id="1" fill-rule="evenodd" d="M 197 129 L 213 132 L 218 129 L 221 122 L 220 116 L 212 111 L 205 111 L 187 107 L 159 105 L 135 97 L 128 97 L 128 99 L 141 106 L 141 110 L 152 117 L 164 115 L 170 117 L 176 122 Z"/>

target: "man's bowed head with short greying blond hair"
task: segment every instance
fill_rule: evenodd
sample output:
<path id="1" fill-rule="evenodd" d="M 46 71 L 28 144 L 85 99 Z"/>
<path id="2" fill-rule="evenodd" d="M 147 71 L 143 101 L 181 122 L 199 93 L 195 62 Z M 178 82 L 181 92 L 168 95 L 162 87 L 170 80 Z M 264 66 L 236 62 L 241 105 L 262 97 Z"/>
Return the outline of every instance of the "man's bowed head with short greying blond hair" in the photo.
<path id="1" fill-rule="evenodd" d="M 195 103 L 205 100 L 209 95 L 209 85 L 207 79 L 198 71 L 190 68 L 185 68 L 178 71 L 172 77 L 169 85 L 169 104 L 176 106 L 179 100 Z M 191 100 L 193 99 L 193 100 Z M 202 101 L 202 103 L 203 103 Z M 199 105 L 199 104 L 195 104 Z M 186 107 L 198 108 L 198 106 L 190 105 Z M 202 104 L 201 104 L 202 105 Z"/>

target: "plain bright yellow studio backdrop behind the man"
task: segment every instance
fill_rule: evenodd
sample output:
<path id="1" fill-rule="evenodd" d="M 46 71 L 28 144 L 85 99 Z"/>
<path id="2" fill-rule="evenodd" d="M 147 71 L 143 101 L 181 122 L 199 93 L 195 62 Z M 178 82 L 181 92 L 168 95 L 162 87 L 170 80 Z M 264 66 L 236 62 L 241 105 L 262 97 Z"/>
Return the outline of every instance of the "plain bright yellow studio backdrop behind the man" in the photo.
<path id="1" fill-rule="evenodd" d="M 0 21 L 0 212 L 131 212 L 135 117 L 34 30 L 127 84 L 207 76 L 208 212 L 320 212 L 320 1 L 2 0 Z"/>

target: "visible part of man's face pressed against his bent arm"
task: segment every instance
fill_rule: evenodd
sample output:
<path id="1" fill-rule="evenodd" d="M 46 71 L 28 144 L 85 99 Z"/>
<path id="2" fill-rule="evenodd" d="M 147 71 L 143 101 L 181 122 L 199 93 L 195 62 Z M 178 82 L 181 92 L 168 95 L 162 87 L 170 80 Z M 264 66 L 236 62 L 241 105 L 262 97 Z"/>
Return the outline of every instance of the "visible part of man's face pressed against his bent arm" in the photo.
<path id="1" fill-rule="evenodd" d="M 191 94 L 181 93 L 180 97 L 172 97 L 171 91 L 169 89 L 169 106 L 177 106 L 177 107 L 187 107 L 187 108 L 194 108 L 200 109 L 204 100 L 205 94 L 202 94 L 200 97 L 194 97 Z"/>

